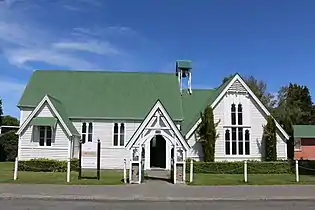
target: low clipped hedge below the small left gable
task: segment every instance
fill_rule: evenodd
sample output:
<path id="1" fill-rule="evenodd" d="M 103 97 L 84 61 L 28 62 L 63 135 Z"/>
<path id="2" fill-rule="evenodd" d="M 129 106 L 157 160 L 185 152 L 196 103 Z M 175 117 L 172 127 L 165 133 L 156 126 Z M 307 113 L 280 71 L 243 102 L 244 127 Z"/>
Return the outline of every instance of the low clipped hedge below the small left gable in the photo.
<path id="1" fill-rule="evenodd" d="M 46 158 L 31 159 L 27 161 L 19 161 L 19 171 L 34 171 L 34 172 L 66 172 L 67 161 L 52 160 Z M 79 160 L 71 160 L 71 170 L 79 170 Z"/>

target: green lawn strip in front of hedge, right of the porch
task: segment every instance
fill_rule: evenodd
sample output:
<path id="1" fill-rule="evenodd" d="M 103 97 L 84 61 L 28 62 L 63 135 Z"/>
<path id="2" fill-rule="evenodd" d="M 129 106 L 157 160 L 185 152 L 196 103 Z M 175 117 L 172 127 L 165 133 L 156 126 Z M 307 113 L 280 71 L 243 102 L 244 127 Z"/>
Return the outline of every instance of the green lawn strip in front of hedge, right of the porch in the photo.
<path id="1" fill-rule="evenodd" d="M 191 185 L 244 185 L 243 174 L 194 174 Z M 248 174 L 248 185 L 315 184 L 315 175 L 301 175 L 300 182 L 294 174 Z"/>

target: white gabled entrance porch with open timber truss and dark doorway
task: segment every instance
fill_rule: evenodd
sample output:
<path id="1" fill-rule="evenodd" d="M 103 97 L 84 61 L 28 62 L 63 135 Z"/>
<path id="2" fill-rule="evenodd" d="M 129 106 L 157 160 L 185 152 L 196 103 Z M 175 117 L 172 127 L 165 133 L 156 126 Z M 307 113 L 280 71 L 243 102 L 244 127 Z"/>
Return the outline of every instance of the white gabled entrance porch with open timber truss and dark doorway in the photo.
<path id="1" fill-rule="evenodd" d="M 131 152 L 130 183 L 141 183 L 147 170 L 165 170 L 173 183 L 185 182 L 189 145 L 160 101 L 153 106 L 127 143 Z"/>

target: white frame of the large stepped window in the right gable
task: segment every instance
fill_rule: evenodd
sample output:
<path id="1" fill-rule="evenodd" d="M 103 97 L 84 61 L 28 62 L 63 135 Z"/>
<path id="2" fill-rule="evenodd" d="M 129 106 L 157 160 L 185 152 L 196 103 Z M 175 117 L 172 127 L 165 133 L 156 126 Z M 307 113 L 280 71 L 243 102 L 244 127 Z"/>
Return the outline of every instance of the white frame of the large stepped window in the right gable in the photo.
<path id="1" fill-rule="evenodd" d="M 232 125 L 232 105 L 235 105 L 235 121 L 236 121 L 236 125 Z M 238 125 L 238 105 L 241 104 L 242 105 L 242 125 Z M 242 103 L 231 103 L 230 106 L 229 106 L 229 125 L 224 125 L 223 126 L 223 135 L 224 136 L 224 155 L 227 156 L 227 157 L 248 157 L 251 155 L 251 126 L 250 125 L 244 125 L 244 105 Z M 236 129 L 236 139 L 233 139 L 232 138 L 232 128 L 235 128 Z M 242 128 L 243 129 L 243 132 L 242 132 L 242 136 L 243 136 L 243 154 L 239 154 L 239 128 Z M 226 139 L 225 139 L 225 132 L 226 130 L 229 130 L 229 133 L 230 133 L 230 140 L 229 140 L 229 143 L 230 143 L 230 154 L 226 154 Z M 246 154 L 246 140 L 245 140 L 245 131 L 248 130 L 249 131 L 249 154 Z M 234 140 L 234 141 L 233 141 Z M 235 142 L 236 141 L 236 154 L 233 154 L 232 151 L 232 145 L 233 143 L 232 142 Z"/>

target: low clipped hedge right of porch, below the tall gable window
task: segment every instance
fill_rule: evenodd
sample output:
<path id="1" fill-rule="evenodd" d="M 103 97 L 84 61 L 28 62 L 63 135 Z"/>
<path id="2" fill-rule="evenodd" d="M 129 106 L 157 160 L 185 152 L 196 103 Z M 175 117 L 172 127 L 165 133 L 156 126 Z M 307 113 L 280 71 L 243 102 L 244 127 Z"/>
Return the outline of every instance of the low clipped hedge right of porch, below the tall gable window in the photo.
<path id="1" fill-rule="evenodd" d="M 189 161 L 186 164 L 186 172 L 190 171 Z M 194 161 L 194 173 L 209 173 L 209 174 L 243 174 L 244 162 L 196 162 Z M 294 168 L 289 161 L 277 162 L 259 162 L 248 161 L 248 174 L 291 174 L 294 173 Z"/>

